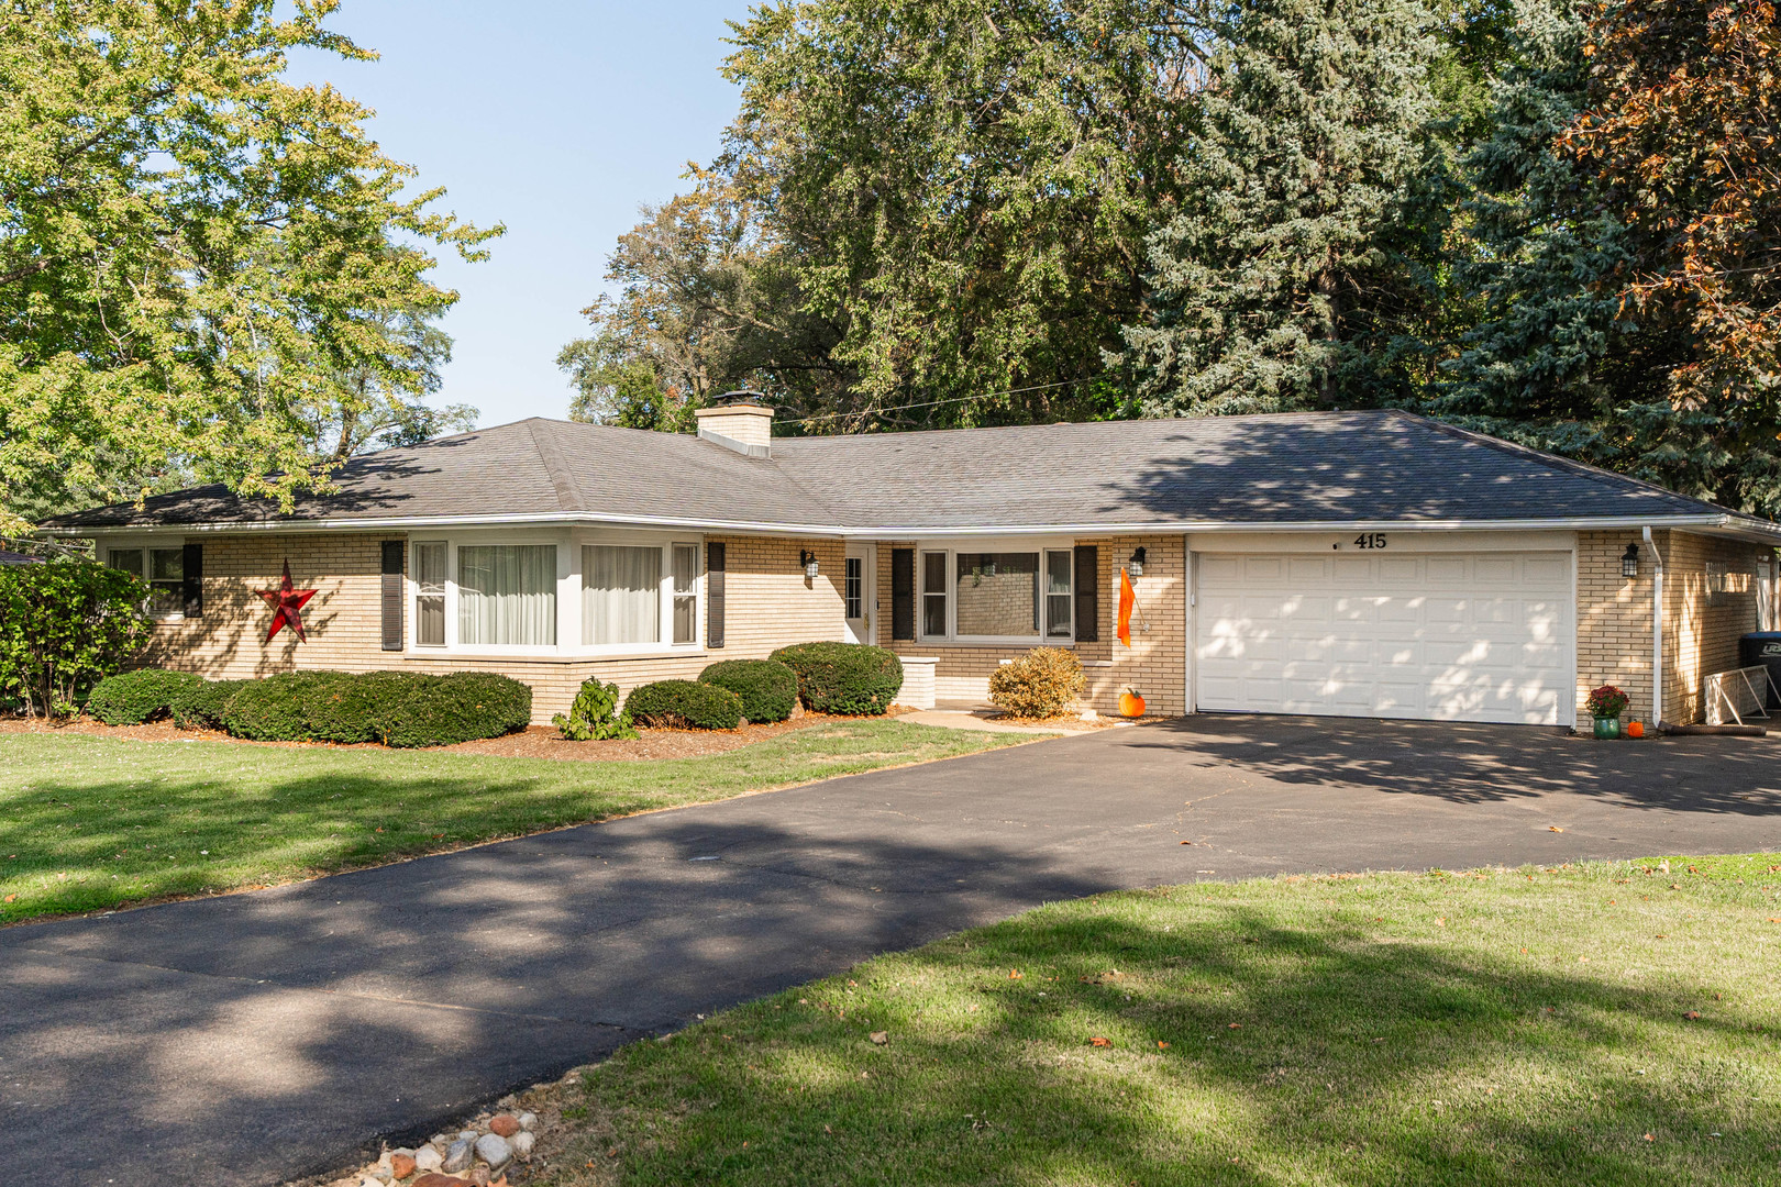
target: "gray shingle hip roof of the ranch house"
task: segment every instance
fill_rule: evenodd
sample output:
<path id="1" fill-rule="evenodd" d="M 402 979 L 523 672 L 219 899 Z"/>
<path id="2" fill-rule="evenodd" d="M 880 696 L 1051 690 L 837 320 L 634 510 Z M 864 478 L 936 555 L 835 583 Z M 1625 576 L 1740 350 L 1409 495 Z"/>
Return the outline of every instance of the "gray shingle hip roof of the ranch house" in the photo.
<path id="1" fill-rule="evenodd" d="M 290 516 L 223 488 L 53 527 L 604 518 L 832 530 L 1672 520 L 1712 504 L 1405 413 L 777 438 L 522 420 L 353 459 Z M 1747 525 L 1772 527 L 1738 516 Z"/>

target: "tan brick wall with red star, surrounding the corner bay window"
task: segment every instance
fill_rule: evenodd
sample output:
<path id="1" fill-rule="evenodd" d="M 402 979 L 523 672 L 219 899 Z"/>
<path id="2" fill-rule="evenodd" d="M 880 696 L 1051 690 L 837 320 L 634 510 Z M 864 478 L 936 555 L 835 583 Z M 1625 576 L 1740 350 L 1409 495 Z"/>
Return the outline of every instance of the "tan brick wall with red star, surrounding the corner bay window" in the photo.
<path id="1" fill-rule="evenodd" d="M 775 648 L 842 639 L 841 541 L 712 536 L 725 543 L 725 646 L 682 655 L 609 660 L 420 657 L 381 650 L 381 543 L 395 534 L 216 536 L 205 545 L 205 614 L 155 628 L 146 662 L 249 678 L 283 671 L 420 673 L 497 671 L 533 687 L 533 721 L 549 723 L 575 699 L 582 680 L 598 676 L 630 692 L 652 680 L 691 680 L 720 658 L 764 658 Z M 798 552 L 819 557 L 812 582 Z M 278 585 L 281 564 L 299 589 L 317 593 L 303 610 L 308 642 L 289 630 L 267 642 L 271 612 L 256 589 Z M 404 607 L 404 616 L 413 607 Z M 705 625 L 700 623 L 703 635 Z"/>

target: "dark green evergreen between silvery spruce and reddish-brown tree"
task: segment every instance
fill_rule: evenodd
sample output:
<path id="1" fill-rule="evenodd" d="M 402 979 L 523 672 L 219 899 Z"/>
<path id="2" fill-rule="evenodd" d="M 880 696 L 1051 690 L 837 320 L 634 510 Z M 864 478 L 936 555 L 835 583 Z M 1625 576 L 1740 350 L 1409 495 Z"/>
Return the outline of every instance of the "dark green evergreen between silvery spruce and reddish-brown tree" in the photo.
<path id="1" fill-rule="evenodd" d="M 1519 0 L 1492 85 L 1494 133 L 1466 160 L 1471 222 L 1453 265 L 1476 322 L 1423 411 L 1731 505 L 1781 505 L 1772 434 L 1674 399 L 1687 324 L 1626 299 L 1637 246 L 1596 173 L 1562 144 L 1599 101 L 1576 0 Z M 1624 203 L 1622 203 L 1624 205 Z"/>

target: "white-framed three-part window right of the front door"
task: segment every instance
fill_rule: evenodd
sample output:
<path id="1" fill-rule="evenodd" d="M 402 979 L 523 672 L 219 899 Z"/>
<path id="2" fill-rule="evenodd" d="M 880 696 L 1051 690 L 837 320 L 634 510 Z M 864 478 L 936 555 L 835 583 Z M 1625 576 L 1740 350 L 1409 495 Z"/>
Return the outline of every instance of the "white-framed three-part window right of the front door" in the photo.
<path id="1" fill-rule="evenodd" d="M 1074 610 L 1069 548 L 921 553 L 923 639 L 1070 642 Z"/>

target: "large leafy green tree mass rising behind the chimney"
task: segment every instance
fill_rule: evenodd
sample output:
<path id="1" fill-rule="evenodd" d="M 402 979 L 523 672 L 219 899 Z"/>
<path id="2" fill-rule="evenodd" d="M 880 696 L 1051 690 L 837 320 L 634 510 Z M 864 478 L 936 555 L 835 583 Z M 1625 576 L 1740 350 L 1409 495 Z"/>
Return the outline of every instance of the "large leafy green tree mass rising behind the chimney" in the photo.
<path id="1" fill-rule="evenodd" d="M 1200 4 L 787 0 L 734 30 L 725 151 L 620 244 L 591 340 L 618 354 L 588 358 L 670 400 L 753 383 L 821 431 L 1122 408 L 1102 351 L 1175 196 Z"/>

